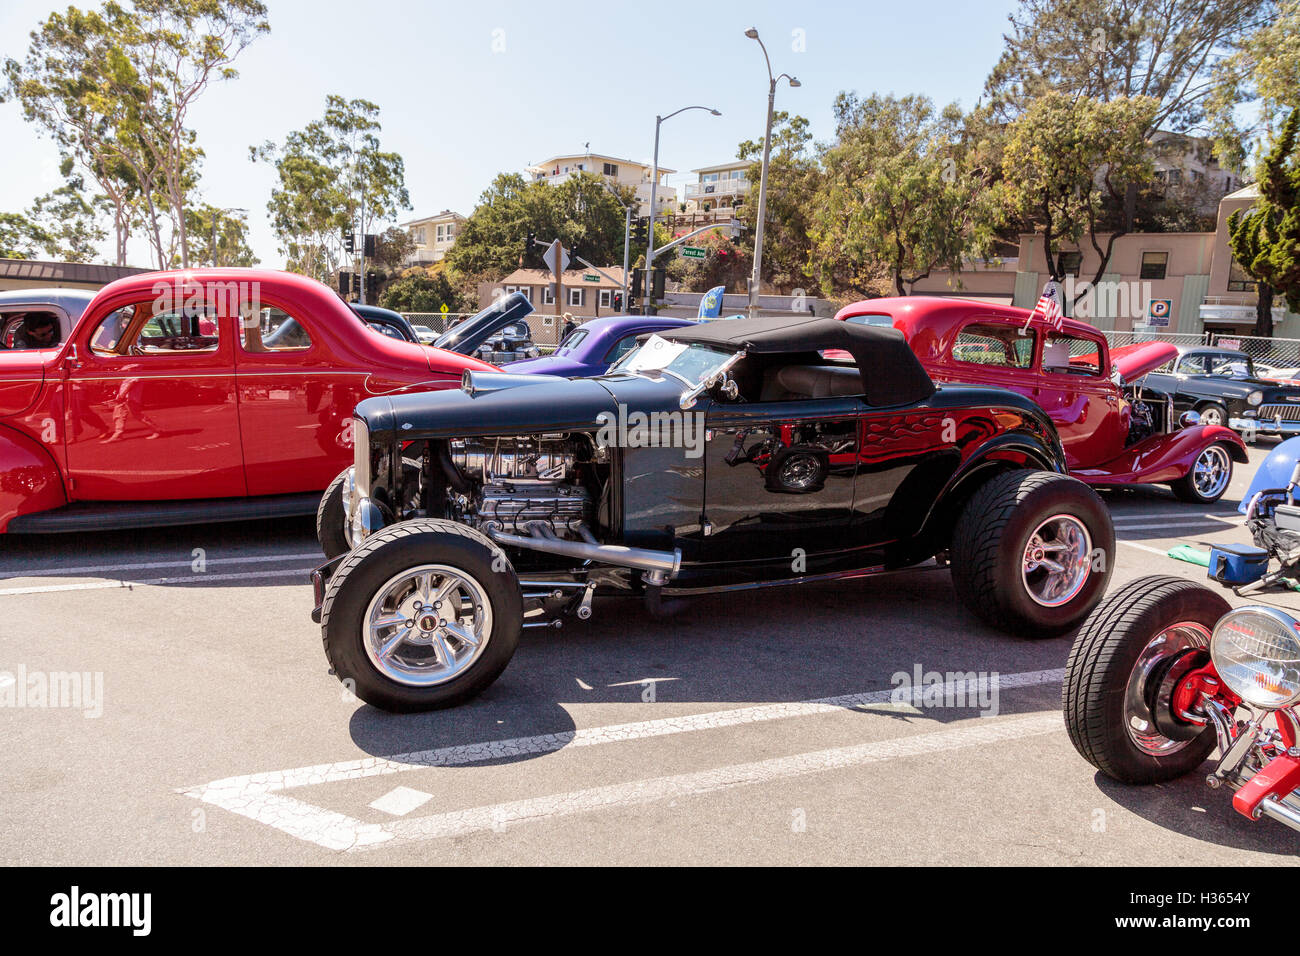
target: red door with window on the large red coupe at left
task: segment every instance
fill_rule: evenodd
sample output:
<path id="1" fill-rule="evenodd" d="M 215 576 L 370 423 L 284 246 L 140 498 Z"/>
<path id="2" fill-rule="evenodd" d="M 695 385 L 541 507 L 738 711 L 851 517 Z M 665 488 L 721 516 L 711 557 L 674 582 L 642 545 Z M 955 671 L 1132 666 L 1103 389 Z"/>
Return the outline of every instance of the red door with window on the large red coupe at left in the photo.
<path id="1" fill-rule="evenodd" d="M 205 307 L 129 303 L 66 362 L 66 454 L 81 501 L 246 493 L 233 320 Z"/>

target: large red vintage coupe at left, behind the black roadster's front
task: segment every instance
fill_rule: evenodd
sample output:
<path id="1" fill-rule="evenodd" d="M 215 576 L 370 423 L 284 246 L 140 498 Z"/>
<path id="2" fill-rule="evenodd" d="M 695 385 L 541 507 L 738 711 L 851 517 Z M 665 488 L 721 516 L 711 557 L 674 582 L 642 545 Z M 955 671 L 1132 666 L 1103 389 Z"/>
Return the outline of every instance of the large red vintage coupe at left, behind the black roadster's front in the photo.
<path id="1" fill-rule="evenodd" d="M 455 347 L 528 311 L 507 297 Z M 0 532 L 316 512 L 351 462 L 358 402 L 465 369 L 495 371 L 381 334 L 303 276 L 118 280 L 61 345 L 0 351 Z"/>

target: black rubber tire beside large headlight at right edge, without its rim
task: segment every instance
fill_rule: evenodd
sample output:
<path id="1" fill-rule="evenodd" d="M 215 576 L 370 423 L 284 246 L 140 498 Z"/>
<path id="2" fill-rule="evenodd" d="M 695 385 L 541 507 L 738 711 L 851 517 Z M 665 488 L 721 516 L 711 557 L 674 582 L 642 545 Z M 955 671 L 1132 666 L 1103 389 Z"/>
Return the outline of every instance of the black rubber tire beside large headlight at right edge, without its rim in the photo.
<path id="1" fill-rule="evenodd" d="M 1173 780 L 1205 762 L 1217 745 L 1209 727 L 1167 754 L 1139 748 L 1127 731 L 1124 693 L 1154 636 L 1182 622 L 1213 632 L 1228 609 L 1209 588 L 1167 575 L 1139 578 L 1097 605 L 1070 649 L 1061 688 L 1070 743 L 1084 760 L 1122 783 Z"/>

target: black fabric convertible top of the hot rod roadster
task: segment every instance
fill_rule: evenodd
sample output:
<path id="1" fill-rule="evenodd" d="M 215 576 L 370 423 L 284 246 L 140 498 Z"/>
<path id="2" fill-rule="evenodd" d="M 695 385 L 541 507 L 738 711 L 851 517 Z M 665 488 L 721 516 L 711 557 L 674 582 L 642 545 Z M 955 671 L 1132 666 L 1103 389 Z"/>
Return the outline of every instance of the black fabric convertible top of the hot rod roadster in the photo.
<path id="1" fill-rule="evenodd" d="M 750 354 L 806 354 L 842 349 L 853 355 L 858 365 L 867 405 L 920 402 L 935 392 L 935 384 L 897 329 L 815 316 L 775 316 L 701 323 L 681 329 L 664 329 L 658 334 L 672 342 L 744 349 Z"/>

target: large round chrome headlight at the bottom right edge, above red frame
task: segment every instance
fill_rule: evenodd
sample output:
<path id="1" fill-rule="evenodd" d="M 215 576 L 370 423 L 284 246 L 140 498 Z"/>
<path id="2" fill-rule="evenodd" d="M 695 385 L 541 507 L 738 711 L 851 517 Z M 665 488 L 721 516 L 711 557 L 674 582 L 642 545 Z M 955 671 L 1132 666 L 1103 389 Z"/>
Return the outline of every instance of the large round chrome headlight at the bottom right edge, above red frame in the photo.
<path id="1" fill-rule="evenodd" d="M 1219 679 L 1264 710 L 1300 701 L 1300 622 L 1273 607 L 1239 607 L 1214 626 L 1210 658 Z"/>

